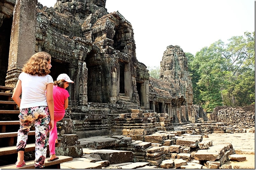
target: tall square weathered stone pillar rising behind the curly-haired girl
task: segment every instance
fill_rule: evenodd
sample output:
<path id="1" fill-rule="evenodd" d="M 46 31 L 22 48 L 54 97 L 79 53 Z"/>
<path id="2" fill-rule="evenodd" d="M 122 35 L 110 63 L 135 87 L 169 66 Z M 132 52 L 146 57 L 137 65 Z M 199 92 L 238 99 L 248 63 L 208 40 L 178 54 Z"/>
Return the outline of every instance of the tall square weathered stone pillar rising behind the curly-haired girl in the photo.
<path id="1" fill-rule="evenodd" d="M 13 11 L 5 86 L 15 87 L 25 62 L 35 54 L 37 0 L 17 0 Z"/>

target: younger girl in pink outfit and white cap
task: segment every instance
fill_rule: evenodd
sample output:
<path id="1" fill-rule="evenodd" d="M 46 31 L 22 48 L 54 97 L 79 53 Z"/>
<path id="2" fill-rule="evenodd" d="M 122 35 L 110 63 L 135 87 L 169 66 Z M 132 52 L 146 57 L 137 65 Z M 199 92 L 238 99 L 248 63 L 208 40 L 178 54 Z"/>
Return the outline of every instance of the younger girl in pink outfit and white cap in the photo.
<path id="1" fill-rule="evenodd" d="M 47 161 L 59 159 L 55 154 L 55 143 L 58 142 L 57 122 L 65 116 L 65 110 L 68 108 L 69 93 L 66 88 L 69 86 L 69 83 L 74 83 L 74 81 L 72 81 L 67 74 L 60 74 L 57 77 L 57 81 L 53 83 L 54 125 L 49 135 L 50 159 Z"/>

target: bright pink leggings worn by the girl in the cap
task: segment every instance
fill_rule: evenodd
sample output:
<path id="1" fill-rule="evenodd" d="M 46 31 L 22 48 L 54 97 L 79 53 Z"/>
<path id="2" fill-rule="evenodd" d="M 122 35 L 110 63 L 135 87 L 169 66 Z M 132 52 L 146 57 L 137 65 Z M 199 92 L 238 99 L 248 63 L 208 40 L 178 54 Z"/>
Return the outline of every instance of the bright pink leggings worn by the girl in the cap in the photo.
<path id="1" fill-rule="evenodd" d="M 65 113 L 54 112 L 54 126 L 53 126 L 53 130 L 50 131 L 50 135 L 49 135 L 50 155 L 55 154 L 55 140 L 58 139 L 57 122 L 63 119 L 64 116 L 65 116 Z"/>

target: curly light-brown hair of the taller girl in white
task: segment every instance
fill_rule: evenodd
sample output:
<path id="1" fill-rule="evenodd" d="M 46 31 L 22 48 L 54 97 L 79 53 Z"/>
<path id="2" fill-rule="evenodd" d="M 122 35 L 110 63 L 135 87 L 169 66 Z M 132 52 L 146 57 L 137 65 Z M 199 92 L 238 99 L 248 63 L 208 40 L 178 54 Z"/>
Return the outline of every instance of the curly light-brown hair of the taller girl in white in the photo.
<path id="1" fill-rule="evenodd" d="M 38 74 L 39 76 L 45 76 L 51 71 L 48 68 L 48 61 L 51 59 L 51 55 L 46 52 L 38 52 L 30 57 L 30 59 L 24 64 L 22 71 L 31 75 Z"/>

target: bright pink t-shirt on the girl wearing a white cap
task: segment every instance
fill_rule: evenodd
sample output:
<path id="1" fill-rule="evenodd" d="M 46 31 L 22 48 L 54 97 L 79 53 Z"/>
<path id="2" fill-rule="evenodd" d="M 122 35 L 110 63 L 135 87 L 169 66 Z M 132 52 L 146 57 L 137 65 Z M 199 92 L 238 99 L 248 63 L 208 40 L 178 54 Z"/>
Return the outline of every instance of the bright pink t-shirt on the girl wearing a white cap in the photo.
<path id="1" fill-rule="evenodd" d="M 53 86 L 53 100 L 54 100 L 54 112 L 65 113 L 64 101 L 69 97 L 69 93 L 66 89 L 57 85 Z"/>

